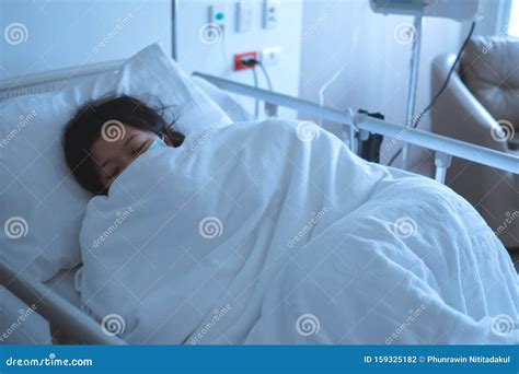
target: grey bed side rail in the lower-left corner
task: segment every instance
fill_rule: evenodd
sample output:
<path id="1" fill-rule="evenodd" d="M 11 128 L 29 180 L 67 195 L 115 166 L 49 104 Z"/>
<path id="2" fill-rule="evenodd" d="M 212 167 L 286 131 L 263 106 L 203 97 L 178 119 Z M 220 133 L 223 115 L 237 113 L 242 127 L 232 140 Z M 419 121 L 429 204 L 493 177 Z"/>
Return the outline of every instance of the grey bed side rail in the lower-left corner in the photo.
<path id="1" fill-rule="evenodd" d="M 73 340 L 90 344 L 126 344 L 116 336 L 105 335 L 94 319 L 51 292 L 45 284 L 12 269 L 5 261 L 0 261 L 0 284 L 25 304 L 35 305 L 35 311 L 42 317 L 50 325 L 59 326 Z"/>

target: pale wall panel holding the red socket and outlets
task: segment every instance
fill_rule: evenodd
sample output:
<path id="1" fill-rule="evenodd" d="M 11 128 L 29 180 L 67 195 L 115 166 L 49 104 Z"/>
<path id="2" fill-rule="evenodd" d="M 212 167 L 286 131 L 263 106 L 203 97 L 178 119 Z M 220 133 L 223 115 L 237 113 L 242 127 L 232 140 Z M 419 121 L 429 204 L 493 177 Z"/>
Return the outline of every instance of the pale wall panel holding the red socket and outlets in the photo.
<path id="1" fill-rule="evenodd" d="M 264 48 L 280 47 L 281 55 L 275 65 L 266 66 L 274 90 L 288 95 L 299 94 L 300 74 L 300 39 L 302 27 L 302 0 L 284 0 L 278 7 L 278 23 L 274 28 L 263 26 L 264 1 L 250 1 L 253 5 L 251 30 L 237 31 L 237 1 L 217 1 L 223 4 L 227 22 L 223 36 L 218 43 L 204 40 L 200 32 L 208 22 L 208 7 L 215 3 L 210 0 L 178 1 L 176 16 L 176 56 L 178 62 L 188 72 L 198 70 L 245 84 L 253 84 L 251 70 L 233 71 L 235 54 L 256 51 Z M 256 69 L 260 70 L 260 69 Z M 266 89 L 266 82 L 258 71 L 260 86 Z M 234 96 L 250 112 L 253 102 L 243 96 Z M 261 114 L 263 109 L 261 109 Z M 280 109 L 284 117 L 295 117 L 288 109 Z"/>

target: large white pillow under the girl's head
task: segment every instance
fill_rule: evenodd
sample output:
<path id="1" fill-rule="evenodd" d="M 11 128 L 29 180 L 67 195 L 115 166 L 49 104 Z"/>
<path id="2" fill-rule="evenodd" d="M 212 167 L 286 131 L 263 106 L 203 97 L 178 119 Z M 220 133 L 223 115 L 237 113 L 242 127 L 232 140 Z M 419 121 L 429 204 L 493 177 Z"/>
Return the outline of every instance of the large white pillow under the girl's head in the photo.
<path id="1" fill-rule="evenodd" d="M 185 135 L 231 124 L 158 45 L 138 52 L 115 74 L 90 78 L 56 94 L 1 103 L 0 260 L 41 281 L 80 262 L 79 230 L 91 197 L 65 163 L 61 131 L 79 106 L 109 93 L 145 102 L 153 95 L 181 108 L 175 126 Z"/>

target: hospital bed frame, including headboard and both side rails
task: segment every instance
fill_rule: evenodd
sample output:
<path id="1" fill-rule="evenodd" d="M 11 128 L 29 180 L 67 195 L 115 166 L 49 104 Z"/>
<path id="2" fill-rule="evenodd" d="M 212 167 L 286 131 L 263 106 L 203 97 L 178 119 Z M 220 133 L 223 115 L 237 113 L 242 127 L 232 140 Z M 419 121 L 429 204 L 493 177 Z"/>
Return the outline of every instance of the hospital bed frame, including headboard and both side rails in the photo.
<path id="1" fill-rule="evenodd" d="M 73 84 L 77 80 L 99 73 L 115 72 L 120 63 L 122 61 L 111 61 L 3 81 L 0 82 L 0 101 L 20 95 L 57 91 L 65 84 Z M 193 75 L 198 80 L 203 79 L 212 83 L 224 92 L 263 101 L 269 105 L 270 109 L 286 107 L 297 110 L 300 115 L 342 124 L 348 127 L 351 140 L 362 133 L 377 133 L 431 150 L 435 152 L 435 179 L 440 183 L 445 182 L 452 156 L 519 174 L 519 157 L 510 154 L 418 129 L 403 128 L 397 124 L 355 114 L 351 109 L 337 110 L 321 107 L 298 97 L 200 72 L 195 72 Z M 208 94 L 211 93 L 208 92 Z M 354 141 L 350 141 L 349 147 L 356 151 Z M 12 267 L 0 261 L 0 284 L 26 305 L 34 304 L 37 313 L 49 322 L 53 330 L 59 330 L 59 335 L 67 337 L 58 342 L 124 344 L 125 342 L 116 336 L 103 334 L 99 322 L 80 308 L 79 294 L 74 288 L 76 271 L 78 269 L 64 270 L 51 280 L 41 283 L 26 274 L 14 272 Z"/>

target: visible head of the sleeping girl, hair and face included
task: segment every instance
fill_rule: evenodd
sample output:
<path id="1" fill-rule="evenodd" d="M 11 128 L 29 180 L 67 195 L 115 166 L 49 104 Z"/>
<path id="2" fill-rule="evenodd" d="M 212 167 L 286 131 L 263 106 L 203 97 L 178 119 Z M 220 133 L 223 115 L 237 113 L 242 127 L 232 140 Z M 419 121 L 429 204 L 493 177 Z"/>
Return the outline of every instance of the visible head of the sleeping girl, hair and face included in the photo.
<path id="1" fill-rule="evenodd" d="M 122 95 L 82 106 L 64 132 L 65 159 L 76 180 L 106 195 L 115 178 L 150 147 L 180 147 L 184 136 L 140 100 Z"/>

